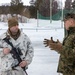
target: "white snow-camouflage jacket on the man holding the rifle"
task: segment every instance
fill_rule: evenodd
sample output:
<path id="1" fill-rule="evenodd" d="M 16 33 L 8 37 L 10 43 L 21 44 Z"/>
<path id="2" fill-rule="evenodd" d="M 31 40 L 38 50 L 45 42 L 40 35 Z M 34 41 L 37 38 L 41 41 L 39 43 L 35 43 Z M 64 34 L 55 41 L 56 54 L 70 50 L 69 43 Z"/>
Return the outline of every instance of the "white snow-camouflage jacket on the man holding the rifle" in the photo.
<path id="1" fill-rule="evenodd" d="M 0 72 L 11 70 L 13 66 L 18 64 L 18 60 L 14 59 L 11 53 L 7 55 L 3 53 L 3 48 L 9 48 L 12 50 L 12 47 L 3 40 L 7 35 L 9 35 L 8 31 L 0 35 Z M 15 48 L 20 48 L 20 51 L 22 52 L 22 55 L 20 55 L 21 59 L 27 61 L 29 65 L 32 62 L 32 58 L 34 56 L 34 49 L 29 37 L 21 32 L 17 40 L 14 40 L 10 36 L 9 41 L 12 42 Z M 16 68 L 20 69 L 21 67 L 18 66 Z"/>

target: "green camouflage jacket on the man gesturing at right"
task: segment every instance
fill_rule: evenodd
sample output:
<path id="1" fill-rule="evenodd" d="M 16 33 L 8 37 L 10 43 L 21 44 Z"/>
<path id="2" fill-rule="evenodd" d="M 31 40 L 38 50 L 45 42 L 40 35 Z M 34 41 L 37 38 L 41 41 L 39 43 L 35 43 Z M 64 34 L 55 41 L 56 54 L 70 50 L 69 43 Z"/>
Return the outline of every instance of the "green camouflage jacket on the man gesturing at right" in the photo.
<path id="1" fill-rule="evenodd" d="M 63 40 L 57 72 L 75 73 L 75 27 L 71 27 Z"/>

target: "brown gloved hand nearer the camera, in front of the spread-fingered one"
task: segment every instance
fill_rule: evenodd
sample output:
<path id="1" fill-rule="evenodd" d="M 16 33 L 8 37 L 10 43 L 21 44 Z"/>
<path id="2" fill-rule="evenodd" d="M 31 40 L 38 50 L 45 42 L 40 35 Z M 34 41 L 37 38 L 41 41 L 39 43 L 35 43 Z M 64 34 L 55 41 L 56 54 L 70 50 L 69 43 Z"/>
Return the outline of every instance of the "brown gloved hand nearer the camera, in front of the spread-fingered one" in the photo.
<path id="1" fill-rule="evenodd" d="M 55 43 L 49 43 L 49 48 L 51 50 L 55 50 L 57 52 L 61 52 L 62 50 L 62 44 L 57 40 Z"/>

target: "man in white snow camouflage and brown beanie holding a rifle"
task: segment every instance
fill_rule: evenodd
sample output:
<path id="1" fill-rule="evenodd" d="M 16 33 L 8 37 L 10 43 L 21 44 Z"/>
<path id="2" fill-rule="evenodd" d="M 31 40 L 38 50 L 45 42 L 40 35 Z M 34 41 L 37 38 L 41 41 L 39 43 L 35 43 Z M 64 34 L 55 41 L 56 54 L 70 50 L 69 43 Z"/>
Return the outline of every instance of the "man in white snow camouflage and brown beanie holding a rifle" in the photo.
<path id="1" fill-rule="evenodd" d="M 32 62 L 34 49 L 29 37 L 19 29 L 18 25 L 17 19 L 10 18 L 8 30 L 0 35 L 0 75 L 28 75 L 26 69 Z M 16 49 L 4 40 L 6 37 Z M 15 52 L 11 51 L 17 51 L 22 61 L 19 62 Z"/>

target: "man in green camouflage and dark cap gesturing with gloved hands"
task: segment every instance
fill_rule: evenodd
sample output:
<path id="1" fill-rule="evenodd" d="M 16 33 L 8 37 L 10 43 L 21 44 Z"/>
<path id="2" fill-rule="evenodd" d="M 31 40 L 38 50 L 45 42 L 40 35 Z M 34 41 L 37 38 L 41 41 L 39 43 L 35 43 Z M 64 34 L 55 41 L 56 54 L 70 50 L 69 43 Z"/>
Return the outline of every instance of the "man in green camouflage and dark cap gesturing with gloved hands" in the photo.
<path id="1" fill-rule="evenodd" d="M 60 54 L 57 72 L 63 75 L 75 75 L 75 14 L 68 13 L 65 16 L 64 26 L 67 35 L 62 44 L 59 40 L 54 41 L 52 37 L 51 40 L 44 39 L 44 44 Z"/>

